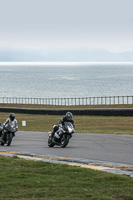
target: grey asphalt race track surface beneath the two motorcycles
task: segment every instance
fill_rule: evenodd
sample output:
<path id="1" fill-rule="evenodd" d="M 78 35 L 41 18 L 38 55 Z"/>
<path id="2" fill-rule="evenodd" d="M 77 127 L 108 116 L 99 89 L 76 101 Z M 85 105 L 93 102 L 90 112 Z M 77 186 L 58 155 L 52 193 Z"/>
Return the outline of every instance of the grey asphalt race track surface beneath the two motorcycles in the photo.
<path id="1" fill-rule="evenodd" d="M 45 132 L 18 131 L 11 146 L 0 146 L 0 152 L 133 165 L 133 135 L 75 133 L 66 148 L 50 148 L 47 141 L 48 134 Z"/>

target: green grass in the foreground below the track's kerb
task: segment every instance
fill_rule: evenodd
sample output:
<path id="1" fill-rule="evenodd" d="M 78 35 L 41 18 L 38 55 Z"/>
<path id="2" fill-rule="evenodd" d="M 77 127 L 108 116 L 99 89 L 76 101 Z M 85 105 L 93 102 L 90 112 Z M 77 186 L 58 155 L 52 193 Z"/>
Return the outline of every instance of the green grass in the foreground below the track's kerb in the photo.
<path id="1" fill-rule="evenodd" d="M 0 156 L 0 200 L 132 200 L 133 179 Z"/>

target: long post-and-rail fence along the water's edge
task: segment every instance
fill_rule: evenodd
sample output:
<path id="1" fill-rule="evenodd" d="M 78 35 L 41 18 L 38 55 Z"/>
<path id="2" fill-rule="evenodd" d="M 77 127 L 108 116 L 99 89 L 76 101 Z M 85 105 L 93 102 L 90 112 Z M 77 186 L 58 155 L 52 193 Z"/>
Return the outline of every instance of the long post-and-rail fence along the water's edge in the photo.
<path id="1" fill-rule="evenodd" d="M 24 98 L 0 97 L 2 104 L 38 105 L 115 105 L 133 104 L 133 96 L 84 97 L 84 98 Z"/>

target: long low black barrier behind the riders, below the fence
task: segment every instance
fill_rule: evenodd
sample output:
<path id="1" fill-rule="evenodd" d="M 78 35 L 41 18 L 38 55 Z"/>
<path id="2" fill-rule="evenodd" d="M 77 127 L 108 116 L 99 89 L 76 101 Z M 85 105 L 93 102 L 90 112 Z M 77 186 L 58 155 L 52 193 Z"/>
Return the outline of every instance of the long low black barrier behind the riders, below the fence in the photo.
<path id="1" fill-rule="evenodd" d="M 72 112 L 73 115 L 87 116 L 133 116 L 133 108 L 90 108 L 90 109 L 27 109 L 27 108 L 0 108 L 0 112 L 24 113 L 38 115 L 65 115 L 66 112 Z"/>

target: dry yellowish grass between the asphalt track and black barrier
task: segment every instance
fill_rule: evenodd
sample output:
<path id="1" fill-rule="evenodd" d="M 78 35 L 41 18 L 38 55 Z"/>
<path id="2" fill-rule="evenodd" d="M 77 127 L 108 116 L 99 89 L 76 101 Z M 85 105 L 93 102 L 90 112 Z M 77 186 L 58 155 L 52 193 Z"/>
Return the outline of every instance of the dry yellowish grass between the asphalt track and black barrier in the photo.
<path id="1" fill-rule="evenodd" d="M 8 113 L 0 113 L 3 123 Z M 18 114 L 19 131 L 48 132 L 62 116 Z M 133 117 L 74 116 L 77 133 L 133 134 Z M 22 126 L 26 121 L 26 127 Z"/>

